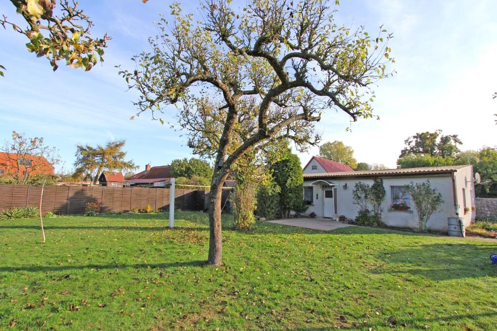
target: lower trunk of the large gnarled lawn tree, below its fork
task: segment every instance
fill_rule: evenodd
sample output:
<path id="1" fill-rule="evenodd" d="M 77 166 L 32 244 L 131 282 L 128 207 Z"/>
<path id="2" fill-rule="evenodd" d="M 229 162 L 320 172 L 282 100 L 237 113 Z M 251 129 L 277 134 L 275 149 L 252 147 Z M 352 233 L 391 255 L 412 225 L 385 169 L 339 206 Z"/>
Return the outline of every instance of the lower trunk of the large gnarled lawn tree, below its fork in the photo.
<path id="1" fill-rule="evenodd" d="M 212 176 L 211 193 L 209 199 L 209 257 L 210 265 L 221 265 L 223 242 L 221 237 L 221 200 L 223 183 L 228 173 L 224 175 L 219 170 L 214 170 Z"/>

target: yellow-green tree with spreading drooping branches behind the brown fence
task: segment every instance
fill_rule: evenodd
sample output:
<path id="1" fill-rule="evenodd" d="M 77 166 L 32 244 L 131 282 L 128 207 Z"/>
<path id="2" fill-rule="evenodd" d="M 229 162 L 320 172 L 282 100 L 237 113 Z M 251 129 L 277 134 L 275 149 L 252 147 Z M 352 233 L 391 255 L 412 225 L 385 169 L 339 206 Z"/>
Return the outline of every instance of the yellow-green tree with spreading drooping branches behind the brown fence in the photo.
<path id="1" fill-rule="evenodd" d="M 76 177 L 90 177 L 93 184 L 104 170 L 127 171 L 136 169 L 133 160 L 126 161 L 126 152 L 123 151 L 126 140 L 114 140 L 104 146 L 77 145 L 76 161 L 74 162 Z"/>

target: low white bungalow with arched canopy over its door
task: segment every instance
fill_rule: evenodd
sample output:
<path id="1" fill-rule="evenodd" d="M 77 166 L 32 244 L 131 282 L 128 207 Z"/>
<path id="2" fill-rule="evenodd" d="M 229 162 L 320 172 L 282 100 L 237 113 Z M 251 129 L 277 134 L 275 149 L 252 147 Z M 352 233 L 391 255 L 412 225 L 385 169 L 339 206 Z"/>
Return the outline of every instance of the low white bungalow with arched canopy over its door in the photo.
<path id="1" fill-rule="evenodd" d="M 447 217 L 461 217 L 465 226 L 469 226 L 475 218 L 476 213 L 472 210 L 475 205 L 472 166 L 320 173 L 312 167 L 315 161 L 313 157 L 303 171 L 304 199 L 309 204 L 306 211 L 308 214 L 315 212 L 317 217 L 334 219 L 344 215 L 354 219 L 359 211 L 352 199 L 355 184 L 363 182 L 372 185 L 375 178 L 381 178 L 386 191 L 382 221 L 392 227 L 415 229 L 418 227 L 417 212 L 404 187 L 411 182 L 420 183 L 429 179 L 431 187 L 442 195 L 443 203 L 441 210 L 435 212 L 426 224 L 428 229 L 447 231 Z M 399 204 L 407 205 L 407 210 L 394 209 Z"/>

